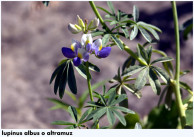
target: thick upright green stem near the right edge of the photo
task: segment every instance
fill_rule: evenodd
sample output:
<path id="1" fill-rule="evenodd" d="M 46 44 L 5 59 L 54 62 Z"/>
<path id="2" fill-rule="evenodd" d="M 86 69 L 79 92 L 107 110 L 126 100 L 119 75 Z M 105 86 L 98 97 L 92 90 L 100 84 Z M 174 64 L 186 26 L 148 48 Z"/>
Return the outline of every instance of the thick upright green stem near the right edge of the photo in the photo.
<path id="1" fill-rule="evenodd" d="M 181 126 L 184 128 L 186 120 L 185 120 L 185 110 L 183 107 L 181 93 L 180 93 L 180 84 L 179 84 L 179 77 L 180 77 L 180 38 L 179 38 L 179 25 L 178 25 L 178 16 L 177 16 L 177 9 L 176 9 L 176 2 L 172 1 L 172 11 L 173 11 L 173 19 L 174 19 L 174 30 L 175 30 L 175 40 L 176 40 L 176 72 L 174 80 L 174 91 L 176 96 L 177 107 L 179 109 L 179 116 L 181 120 Z"/>

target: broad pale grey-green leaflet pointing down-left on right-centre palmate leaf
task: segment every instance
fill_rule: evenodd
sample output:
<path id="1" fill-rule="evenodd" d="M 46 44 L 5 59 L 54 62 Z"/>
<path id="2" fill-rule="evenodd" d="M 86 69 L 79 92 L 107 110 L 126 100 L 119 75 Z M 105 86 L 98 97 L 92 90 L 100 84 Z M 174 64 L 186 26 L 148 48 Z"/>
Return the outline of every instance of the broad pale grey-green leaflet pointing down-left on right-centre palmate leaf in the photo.
<path id="1" fill-rule="evenodd" d="M 148 72 L 149 72 L 149 67 L 146 67 L 139 73 L 139 75 L 135 81 L 135 89 L 136 90 L 140 90 L 145 86 L 145 84 L 147 82 Z"/>

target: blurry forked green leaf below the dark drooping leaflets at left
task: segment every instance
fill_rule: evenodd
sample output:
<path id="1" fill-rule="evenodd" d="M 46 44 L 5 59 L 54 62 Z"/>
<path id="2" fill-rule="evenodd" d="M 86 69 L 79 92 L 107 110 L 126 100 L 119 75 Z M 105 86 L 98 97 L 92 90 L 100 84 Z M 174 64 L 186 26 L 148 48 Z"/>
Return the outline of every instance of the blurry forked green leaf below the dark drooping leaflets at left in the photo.
<path id="1" fill-rule="evenodd" d="M 55 110 L 55 109 L 64 109 L 64 110 L 67 110 L 68 107 L 69 107 L 69 104 L 64 103 L 61 100 L 54 99 L 54 98 L 47 98 L 47 99 L 56 105 L 56 106 L 50 108 L 50 110 Z"/>

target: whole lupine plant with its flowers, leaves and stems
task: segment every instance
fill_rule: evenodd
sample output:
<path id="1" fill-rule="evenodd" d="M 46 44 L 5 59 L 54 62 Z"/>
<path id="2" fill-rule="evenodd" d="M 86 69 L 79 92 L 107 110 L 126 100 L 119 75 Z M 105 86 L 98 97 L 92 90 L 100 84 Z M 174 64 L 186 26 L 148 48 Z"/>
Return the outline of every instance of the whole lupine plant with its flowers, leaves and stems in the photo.
<path id="1" fill-rule="evenodd" d="M 48 2 L 44 4 L 48 5 Z M 133 6 L 132 14 L 128 14 L 121 10 L 116 11 L 110 1 L 107 2 L 109 9 L 97 7 L 92 1 L 89 4 L 96 17 L 89 22 L 77 16 L 76 23 L 68 24 L 68 30 L 72 34 L 79 33 L 82 34 L 82 37 L 80 40 L 72 39 L 67 42 L 70 47 L 64 46 L 61 49 L 64 59 L 59 63 L 50 79 L 50 84 L 54 81 L 54 93 L 60 97 L 60 99 L 49 98 L 55 104 L 51 109 L 64 109 L 74 119 L 74 122 L 55 121 L 52 124 L 66 125 L 65 128 L 72 129 L 192 128 L 193 92 L 186 83 L 179 80 L 189 71 L 180 70 L 180 31 L 176 3 L 171 2 L 176 40 L 175 59 L 152 46 L 159 42 L 159 33 L 162 30 L 139 21 L 139 10 L 136 6 Z M 105 19 L 101 17 L 98 10 L 106 13 Z M 184 36 L 192 30 L 191 21 L 182 27 Z M 99 24 L 102 28 L 99 27 Z M 138 43 L 136 51 L 132 51 L 122 39 L 134 40 L 138 34 L 141 34 L 147 42 Z M 118 68 L 112 79 L 91 85 L 93 76 L 90 71 L 100 73 L 100 68 L 92 63 L 90 56 L 95 56 L 96 59 L 101 59 L 103 62 L 103 58 L 111 54 L 113 46 L 128 53 L 126 61 Z M 153 60 L 152 54 L 159 54 L 161 57 Z M 176 62 L 175 67 L 172 61 Z M 158 67 L 158 64 L 161 64 L 162 67 Z M 82 92 L 80 98 L 74 95 L 81 92 L 76 85 L 74 70 L 77 70 L 78 74 L 87 81 L 88 89 Z M 71 92 L 66 90 L 67 83 Z M 107 84 L 111 85 L 108 89 Z M 102 92 L 96 92 L 95 90 L 100 86 L 102 86 Z M 137 112 L 130 110 L 128 106 L 127 92 L 141 99 L 141 92 L 145 86 L 150 86 L 156 96 L 160 96 L 160 99 L 158 106 L 153 108 L 147 120 L 141 121 Z M 185 99 L 181 97 L 182 90 L 187 91 Z M 61 100 L 64 94 L 73 99 L 75 102 L 73 106 Z M 90 101 L 86 102 L 88 97 Z M 103 117 L 107 117 L 109 125 L 99 124 Z"/>

